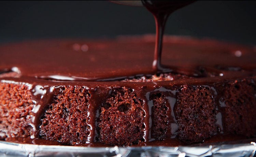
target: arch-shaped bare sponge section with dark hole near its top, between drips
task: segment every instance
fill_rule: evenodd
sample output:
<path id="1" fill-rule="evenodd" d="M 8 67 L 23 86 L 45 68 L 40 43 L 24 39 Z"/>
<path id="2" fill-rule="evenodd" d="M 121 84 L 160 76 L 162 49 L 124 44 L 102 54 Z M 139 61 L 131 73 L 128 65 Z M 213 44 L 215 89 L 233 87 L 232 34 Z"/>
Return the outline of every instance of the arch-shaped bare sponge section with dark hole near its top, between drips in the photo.
<path id="1" fill-rule="evenodd" d="M 131 89 L 113 88 L 100 108 L 99 141 L 111 145 L 133 145 L 144 141 L 143 101 Z"/>

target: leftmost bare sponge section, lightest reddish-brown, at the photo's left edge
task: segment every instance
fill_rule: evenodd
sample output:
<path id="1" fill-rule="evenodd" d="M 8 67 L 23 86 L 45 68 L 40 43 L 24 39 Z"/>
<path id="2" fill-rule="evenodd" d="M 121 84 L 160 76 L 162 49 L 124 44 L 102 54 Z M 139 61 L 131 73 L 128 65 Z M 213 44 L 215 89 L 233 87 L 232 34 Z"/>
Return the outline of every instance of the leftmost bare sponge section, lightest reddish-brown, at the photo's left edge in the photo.
<path id="1" fill-rule="evenodd" d="M 34 103 L 29 86 L 0 82 L 0 138 L 29 137 Z"/>

